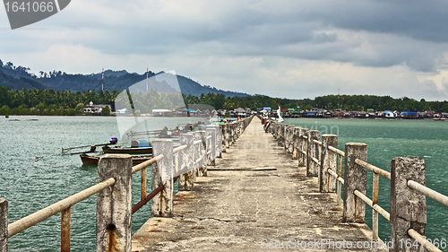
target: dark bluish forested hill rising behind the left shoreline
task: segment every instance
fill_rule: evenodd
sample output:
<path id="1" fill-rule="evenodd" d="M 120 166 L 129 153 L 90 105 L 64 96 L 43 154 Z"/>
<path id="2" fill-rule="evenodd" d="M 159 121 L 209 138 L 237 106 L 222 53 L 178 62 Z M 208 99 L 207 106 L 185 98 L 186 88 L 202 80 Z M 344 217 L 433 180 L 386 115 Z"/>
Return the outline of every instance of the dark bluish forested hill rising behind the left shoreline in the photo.
<path id="1" fill-rule="evenodd" d="M 163 72 L 161 72 L 163 73 Z M 156 74 L 149 72 L 148 76 Z M 141 82 L 146 78 L 146 73 L 128 73 L 125 70 L 104 72 L 104 90 L 122 91 L 134 83 Z M 247 93 L 235 91 L 222 91 L 210 86 L 203 86 L 192 79 L 177 75 L 180 90 L 185 95 L 199 96 L 202 93 L 220 93 L 227 97 L 250 96 Z M 3 63 L 0 60 L 0 86 L 9 87 L 13 90 L 27 89 L 53 89 L 54 91 L 100 91 L 101 73 L 98 74 L 66 74 L 61 71 L 45 73 L 40 71 L 38 75 L 30 74 L 30 68 L 22 65 L 15 66 L 13 63 Z M 162 87 L 163 88 L 163 87 Z M 157 90 L 157 89 L 156 89 Z M 161 90 L 160 90 L 161 91 Z"/>

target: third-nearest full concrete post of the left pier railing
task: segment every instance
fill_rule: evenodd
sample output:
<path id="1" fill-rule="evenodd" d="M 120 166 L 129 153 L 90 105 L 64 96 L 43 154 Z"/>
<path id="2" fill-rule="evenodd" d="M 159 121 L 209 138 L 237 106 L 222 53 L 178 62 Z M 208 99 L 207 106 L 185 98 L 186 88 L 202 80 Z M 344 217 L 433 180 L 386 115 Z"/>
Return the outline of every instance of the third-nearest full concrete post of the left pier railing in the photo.
<path id="1" fill-rule="evenodd" d="M 185 145 L 186 149 L 179 152 L 179 171 L 185 170 L 179 178 L 179 191 L 194 190 L 194 136 L 193 134 L 179 135 L 179 145 Z"/>

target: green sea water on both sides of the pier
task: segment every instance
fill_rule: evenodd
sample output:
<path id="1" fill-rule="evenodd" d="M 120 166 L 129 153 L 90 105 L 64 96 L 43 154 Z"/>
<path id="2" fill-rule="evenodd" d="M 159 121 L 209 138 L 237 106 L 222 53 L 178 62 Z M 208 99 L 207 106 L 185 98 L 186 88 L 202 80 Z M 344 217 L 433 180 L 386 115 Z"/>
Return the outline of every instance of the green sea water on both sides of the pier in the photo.
<path id="1" fill-rule="evenodd" d="M 171 128 L 187 122 L 190 121 L 186 118 L 155 117 L 150 127 Z M 448 195 L 448 122 L 287 119 L 286 123 L 337 134 L 340 150 L 344 149 L 344 143 L 367 143 L 368 162 L 386 170 L 390 170 L 393 157 L 424 157 L 427 186 Z M 115 117 L 0 117 L 0 197 L 8 200 L 9 223 L 95 185 L 95 166 L 82 166 L 79 155 L 59 153 L 62 147 L 108 143 L 113 136 L 119 136 Z M 48 157 L 36 162 L 35 156 Z M 133 176 L 133 204 L 140 197 L 139 174 Z M 371 196 L 372 175 L 367 174 L 367 196 Z M 380 183 L 380 205 L 389 211 L 390 182 L 380 178 Z M 427 201 L 426 236 L 448 238 L 448 207 L 431 199 Z M 95 211 L 96 196 L 73 205 L 72 251 L 95 250 Z M 370 226 L 371 215 L 367 207 Z M 145 205 L 133 215 L 133 232 L 149 217 L 150 205 Z M 390 225 L 380 216 L 380 237 L 389 236 Z M 9 251 L 59 251 L 60 213 L 8 241 Z"/>

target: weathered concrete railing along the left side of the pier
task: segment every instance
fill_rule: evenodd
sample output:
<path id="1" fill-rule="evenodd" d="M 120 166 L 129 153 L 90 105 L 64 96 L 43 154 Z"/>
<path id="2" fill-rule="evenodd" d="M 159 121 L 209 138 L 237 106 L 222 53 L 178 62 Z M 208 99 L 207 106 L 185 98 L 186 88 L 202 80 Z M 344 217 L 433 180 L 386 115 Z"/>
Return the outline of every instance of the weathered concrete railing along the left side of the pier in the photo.
<path id="1" fill-rule="evenodd" d="M 61 251 L 70 251 L 71 206 L 97 196 L 97 251 L 131 251 L 132 213 L 151 200 L 151 216 L 169 217 L 173 213 L 173 185 L 179 190 L 194 190 L 195 176 L 206 176 L 207 161 L 220 157 L 225 143 L 233 143 L 252 117 L 226 125 L 211 126 L 193 134 L 181 134 L 180 146 L 171 140 L 153 141 L 149 161 L 132 166 L 131 155 L 105 155 L 99 160 L 98 184 L 51 204 L 8 225 L 8 202 L 0 198 L 0 252 L 6 252 L 8 239 L 61 212 Z M 221 135 L 221 132 L 227 135 Z M 194 141 L 194 138 L 196 141 Z M 207 154 L 208 153 L 208 154 Z M 152 165 L 152 192 L 147 193 L 147 167 Z M 200 172 L 198 172 L 201 170 Z M 141 171 L 141 201 L 132 206 L 132 174 Z M 114 250 L 115 251 L 115 250 Z"/>

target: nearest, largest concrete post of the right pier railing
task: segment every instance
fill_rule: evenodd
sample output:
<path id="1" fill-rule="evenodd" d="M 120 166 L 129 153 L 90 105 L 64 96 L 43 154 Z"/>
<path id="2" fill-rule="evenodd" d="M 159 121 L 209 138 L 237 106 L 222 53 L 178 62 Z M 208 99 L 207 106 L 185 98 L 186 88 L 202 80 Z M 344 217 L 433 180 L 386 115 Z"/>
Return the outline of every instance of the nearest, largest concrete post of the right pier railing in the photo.
<path id="1" fill-rule="evenodd" d="M 406 248 L 404 241 L 414 244 L 408 230 L 425 235 L 426 196 L 408 187 L 414 180 L 425 186 L 425 160 L 422 158 L 394 158 L 391 162 L 391 225 L 393 248 L 389 251 L 425 251 L 420 246 Z M 401 241 L 401 242 L 400 242 Z"/>

